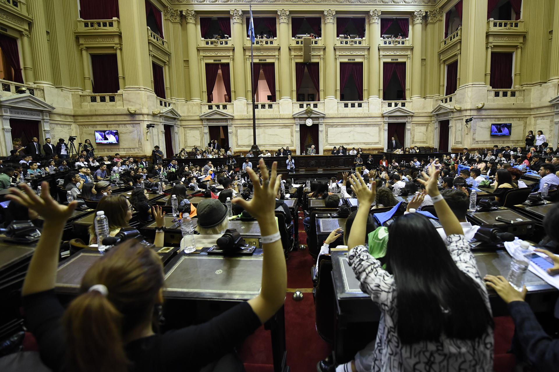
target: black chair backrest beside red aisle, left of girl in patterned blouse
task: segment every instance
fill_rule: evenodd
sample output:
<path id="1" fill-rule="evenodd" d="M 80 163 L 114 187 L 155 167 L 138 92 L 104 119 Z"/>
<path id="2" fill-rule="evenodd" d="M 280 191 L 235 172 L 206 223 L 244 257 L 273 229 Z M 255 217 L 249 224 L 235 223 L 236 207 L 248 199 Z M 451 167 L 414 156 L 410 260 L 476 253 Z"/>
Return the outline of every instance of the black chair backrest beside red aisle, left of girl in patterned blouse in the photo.
<path id="1" fill-rule="evenodd" d="M 332 281 L 332 258 L 323 254 L 318 259 L 318 273 L 315 284 L 315 318 L 316 331 L 321 339 L 332 343 L 334 341 L 335 311 L 334 311 L 334 283 Z"/>

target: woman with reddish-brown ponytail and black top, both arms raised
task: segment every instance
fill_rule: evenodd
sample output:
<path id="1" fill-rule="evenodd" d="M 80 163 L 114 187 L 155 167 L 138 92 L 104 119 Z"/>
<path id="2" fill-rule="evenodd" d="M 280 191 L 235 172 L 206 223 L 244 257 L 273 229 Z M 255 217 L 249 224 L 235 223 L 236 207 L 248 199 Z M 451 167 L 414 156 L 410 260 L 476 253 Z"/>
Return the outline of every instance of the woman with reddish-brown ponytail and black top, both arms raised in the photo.
<path id="1" fill-rule="evenodd" d="M 263 185 L 249 168 L 254 197 L 233 200 L 260 225 L 264 250 L 260 294 L 206 323 L 163 335 L 155 334 L 152 326 L 155 309 L 163 303 L 163 265 L 153 250 L 135 240 L 111 249 L 87 270 L 81 294 L 64 311 L 54 294 L 59 245 L 53 242 L 61 240 L 77 203 L 58 204 L 50 197 L 47 182 L 42 183 L 40 197 L 25 184 L 25 193 L 12 189 L 9 199 L 48 216 L 22 288 L 27 326 L 45 365 L 72 372 L 198 371 L 231 356 L 235 345 L 271 318 L 285 299 L 286 264 L 274 215 L 280 189 L 276 169 L 274 162 L 269 176 L 260 160 Z M 238 357 L 230 357 L 229 363 L 242 368 Z"/>

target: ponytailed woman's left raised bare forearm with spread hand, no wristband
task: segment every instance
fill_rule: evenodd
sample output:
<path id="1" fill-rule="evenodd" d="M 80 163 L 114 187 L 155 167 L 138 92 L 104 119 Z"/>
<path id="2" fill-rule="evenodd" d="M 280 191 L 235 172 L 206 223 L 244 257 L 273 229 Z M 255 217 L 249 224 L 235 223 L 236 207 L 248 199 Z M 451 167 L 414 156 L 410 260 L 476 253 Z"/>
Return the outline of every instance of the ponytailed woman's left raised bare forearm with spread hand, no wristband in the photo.
<path id="1" fill-rule="evenodd" d="M 6 195 L 7 199 L 17 201 L 45 218 L 41 238 L 39 238 L 39 243 L 31 258 L 31 263 L 23 282 L 21 294 L 26 296 L 27 294 L 48 291 L 54 288 L 58 256 L 60 254 L 60 243 L 58 242 L 62 240 L 62 231 L 66 221 L 72 215 L 78 202 L 73 201 L 68 206 L 58 204 L 50 196 L 48 182 L 42 182 L 40 197 L 25 183 L 20 183 L 20 187 L 25 193 L 14 187 L 11 189 L 12 194 Z"/>

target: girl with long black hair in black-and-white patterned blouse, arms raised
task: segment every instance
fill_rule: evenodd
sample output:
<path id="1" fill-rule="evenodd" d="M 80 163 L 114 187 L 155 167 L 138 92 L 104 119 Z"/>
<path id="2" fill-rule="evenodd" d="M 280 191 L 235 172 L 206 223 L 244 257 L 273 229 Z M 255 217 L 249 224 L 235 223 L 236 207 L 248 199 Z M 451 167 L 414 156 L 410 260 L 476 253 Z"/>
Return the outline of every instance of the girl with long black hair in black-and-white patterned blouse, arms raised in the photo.
<path id="1" fill-rule="evenodd" d="M 462 227 L 439 194 L 439 171 L 432 165 L 429 173 L 420 182 L 433 199 L 446 242 L 425 216 L 402 216 L 389 226 L 386 270 L 364 247 L 375 187 L 369 190 L 359 175 L 350 180 L 360 207 L 348 260 L 382 314 L 371 370 L 489 372 L 494 340 L 487 290 Z"/>

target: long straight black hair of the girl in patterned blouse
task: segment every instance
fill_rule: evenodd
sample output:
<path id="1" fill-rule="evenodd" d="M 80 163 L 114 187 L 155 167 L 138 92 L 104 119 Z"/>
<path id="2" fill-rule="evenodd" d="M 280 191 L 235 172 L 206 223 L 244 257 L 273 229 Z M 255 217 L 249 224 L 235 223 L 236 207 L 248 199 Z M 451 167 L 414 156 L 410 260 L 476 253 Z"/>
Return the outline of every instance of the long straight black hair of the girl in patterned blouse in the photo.
<path id="1" fill-rule="evenodd" d="M 480 284 L 458 269 L 428 218 L 411 213 L 388 229 L 387 270 L 397 288 L 402 344 L 438 341 L 443 333 L 459 340 L 484 335 L 493 321 Z"/>

